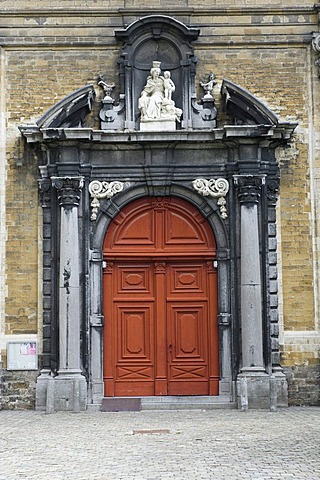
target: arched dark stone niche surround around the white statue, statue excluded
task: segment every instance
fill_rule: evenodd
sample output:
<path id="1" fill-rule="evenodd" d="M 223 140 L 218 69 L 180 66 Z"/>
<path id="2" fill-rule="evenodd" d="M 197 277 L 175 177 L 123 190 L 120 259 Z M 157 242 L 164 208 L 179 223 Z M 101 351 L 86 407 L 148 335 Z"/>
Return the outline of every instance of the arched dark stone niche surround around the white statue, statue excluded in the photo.
<path id="1" fill-rule="evenodd" d="M 161 69 L 170 70 L 173 81 L 181 86 L 175 99 L 176 106 L 183 111 L 181 128 L 192 127 L 190 99 L 195 92 L 195 65 L 192 41 L 200 30 L 190 28 L 166 15 L 148 15 L 116 30 L 115 36 L 124 42 L 118 60 L 120 67 L 120 91 L 125 96 L 125 128 L 138 129 L 138 98 L 152 61 L 161 61 Z M 162 45 L 162 47 L 161 47 Z M 177 96 L 177 89 L 175 96 Z"/>

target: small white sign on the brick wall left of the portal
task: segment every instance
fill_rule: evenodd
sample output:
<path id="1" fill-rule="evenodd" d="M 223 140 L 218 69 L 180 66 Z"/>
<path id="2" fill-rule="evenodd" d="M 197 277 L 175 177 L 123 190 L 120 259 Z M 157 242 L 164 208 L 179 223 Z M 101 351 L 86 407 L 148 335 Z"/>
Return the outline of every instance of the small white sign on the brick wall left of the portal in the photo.
<path id="1" fill-rule="evenodd" d="M 7 342 L 7 370 L 37 369 L 37 342 Z"/>

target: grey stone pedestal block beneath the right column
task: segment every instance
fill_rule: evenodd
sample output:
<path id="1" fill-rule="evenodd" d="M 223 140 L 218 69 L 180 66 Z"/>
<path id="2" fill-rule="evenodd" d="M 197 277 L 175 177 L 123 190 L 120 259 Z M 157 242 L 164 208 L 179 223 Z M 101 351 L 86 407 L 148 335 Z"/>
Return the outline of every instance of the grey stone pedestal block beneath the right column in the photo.
<path id="1" fill-rule="evenodd" d="M 280 370 L 268 375 L 261 369 L 243 369 L 237 377 L 239 410 L 261 408 L 276 411 L 278 407 L 287 407 L 287 379 Z"/>

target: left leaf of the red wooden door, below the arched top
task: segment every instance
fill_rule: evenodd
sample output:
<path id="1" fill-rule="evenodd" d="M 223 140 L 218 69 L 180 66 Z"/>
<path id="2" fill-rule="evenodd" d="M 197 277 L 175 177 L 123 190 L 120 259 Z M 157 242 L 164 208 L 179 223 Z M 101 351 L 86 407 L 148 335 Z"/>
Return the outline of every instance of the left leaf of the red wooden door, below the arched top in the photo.
<path id="1" fill-rule="evenodd" d="M 114 262 L 105 277 L 105 395 L 154 395 L 153 263 Z"/>

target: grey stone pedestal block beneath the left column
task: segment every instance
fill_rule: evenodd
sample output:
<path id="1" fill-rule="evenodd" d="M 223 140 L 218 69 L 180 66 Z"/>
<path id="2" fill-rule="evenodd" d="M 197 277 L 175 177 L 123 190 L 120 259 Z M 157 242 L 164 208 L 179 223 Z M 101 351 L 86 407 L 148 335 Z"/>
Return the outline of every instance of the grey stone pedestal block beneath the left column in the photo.
<path id="1" fill-rule="evenodd" d="M 53 377 L 42 370 L 36 385 L 36 410 L 80 412 L 87 406 L 87 381 L 78 370 L 59 371 Z"/>

